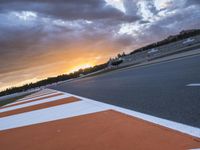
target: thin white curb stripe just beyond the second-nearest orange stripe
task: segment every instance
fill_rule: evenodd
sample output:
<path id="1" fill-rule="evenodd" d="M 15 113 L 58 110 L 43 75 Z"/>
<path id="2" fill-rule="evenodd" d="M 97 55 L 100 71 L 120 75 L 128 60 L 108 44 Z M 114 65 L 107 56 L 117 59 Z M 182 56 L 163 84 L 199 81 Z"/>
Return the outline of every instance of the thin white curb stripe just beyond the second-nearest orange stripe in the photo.
<path id="1" fill-rule="evenodd" d="M 33 105 L 36 105 L 36 104 L 51 102 L 51 101 L 59 100 L 59 99 L 66 98 L 66 97 L 69 97 L 69 96 L 70 96 L 69 94 L 64 94 L 64 95 L 46 98 L 46 99 L 42 99 L 42 100 L 38 100 L 38 101 L 33 101 L 33 102 L 30 102 L 30 103 L 11 106 L 11 107 L 8 107 L 8 108 L 0 109 L 0 113 L 10 111 L 10 110 L 19 109 L 19 108 L 24 108 L 24 107 L 28 107 L 28 106 L 33 106 Z"/>

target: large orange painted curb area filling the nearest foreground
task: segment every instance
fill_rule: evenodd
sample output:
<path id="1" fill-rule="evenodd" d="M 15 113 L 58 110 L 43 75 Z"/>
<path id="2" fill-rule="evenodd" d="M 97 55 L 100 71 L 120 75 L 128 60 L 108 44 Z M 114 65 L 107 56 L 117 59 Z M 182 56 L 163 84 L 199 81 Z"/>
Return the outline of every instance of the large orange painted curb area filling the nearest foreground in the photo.
<path id="1" fill-rule="evenodd" d="M 108 110 L 0 132 L 2 149 L 183 150 L 200 139 Z"/>

